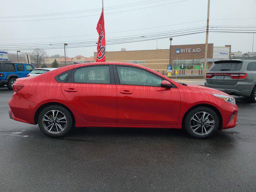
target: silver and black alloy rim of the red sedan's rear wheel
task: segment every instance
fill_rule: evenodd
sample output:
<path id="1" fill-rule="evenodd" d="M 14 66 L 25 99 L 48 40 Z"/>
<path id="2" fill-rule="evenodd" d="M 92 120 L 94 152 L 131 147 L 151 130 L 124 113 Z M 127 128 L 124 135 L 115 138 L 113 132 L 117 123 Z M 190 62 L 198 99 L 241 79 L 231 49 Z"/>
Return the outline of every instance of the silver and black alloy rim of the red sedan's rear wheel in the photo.
<path id="1" fill-rule="evenodd" d="M 66 116 L 59 110 L 50 110 L 46 112 L 42 121 L 44 129 L 52 134 L 62 132 L 67 125 Z"/>

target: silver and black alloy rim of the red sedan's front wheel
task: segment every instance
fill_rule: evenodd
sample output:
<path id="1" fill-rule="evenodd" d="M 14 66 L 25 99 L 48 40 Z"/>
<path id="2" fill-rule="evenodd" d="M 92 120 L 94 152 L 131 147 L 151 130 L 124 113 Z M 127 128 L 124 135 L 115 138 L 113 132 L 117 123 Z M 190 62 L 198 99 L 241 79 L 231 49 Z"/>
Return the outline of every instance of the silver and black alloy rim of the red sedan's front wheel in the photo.
<path id="1" fill-rule="evenodd" d="M 214 128 L 214 118 L 208 112 L 198 112 L 192 116 L 190 128 L 197 135 L 207 135 Z"/>

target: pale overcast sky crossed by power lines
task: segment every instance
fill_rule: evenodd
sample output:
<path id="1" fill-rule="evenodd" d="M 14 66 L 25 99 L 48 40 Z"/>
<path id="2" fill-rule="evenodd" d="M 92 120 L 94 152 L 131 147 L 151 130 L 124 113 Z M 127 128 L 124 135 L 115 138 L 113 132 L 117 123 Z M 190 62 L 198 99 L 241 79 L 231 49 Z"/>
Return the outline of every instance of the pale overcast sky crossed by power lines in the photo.
<path id="1" fill-rule="evenodd" d="M 133 6 L 131 3 L 141 2 Z M 177 3 L 173 3 L 177 2 Z M 173 3 L 173 4 L 170 4 Z M 124 8 L 109 9 L 108 7 L 125 5 Z M 165 4 L 165 5 L 163 5 Z M 158 6 L 163 5 L 163 6 Z M 9 0 L 1 5 L 0 12 L 0 44 L 29 44 L 53 42 L 74 42 L 94 40 L 98 38 L 96 24 L 100 10 L 79 14 L 59 16 L 41 16 L 28 18 L 3 18 L 10 16 L 26 16 L 92 10 L 101 8 L 102 0 Z M 154 6 L 151 8 L 146 8 Z M 135 36 L 167 30 L 179 30 L 206 25 L 207 0 L 104 0 L 106 38 Z M 140 9 L 142 8 L 142 9 Z M 137 9 L 137 10 L 134 10 Z M 126 11 L 131 10 L 131 11 Z M 256 26 L 256 0 L 211 0 L 210 25 L 221 26 Z M 122 12 L 124 11 L 124 12 Z M 118 13 L 113 13 L 118 12 Z M 74 13 L 74 12 L 73 12 Z M 90 16 L 95 15 L 95 16 Z M 79 18 L 66 18 L 78 17 Z M 55 19 L 66 18 L 66 19 Z M 247 19 L 244 19 L 247 18 Z M 251 19 L 250 19 L 251 18 Z M 254 18 L 254 19 L 252 19 Z M 40 20 L 52 19 L 52 20 Z M 232 20 L 216 20 L 232 19 Z M 13 21 L 30 20 L 30 21 Z M 37 20 L 37 21 L 31 21 Z M 194 22 L 203 20 L 199 22 Z M 3 22 L 12 21 L 12 22 Z M 190 22 L 190 23 L 188 23 Z M 182 24 L 186 23 L 186 24 Z M 167 26 L 169 25 L 169 26 Z M 161 27 L 165 26 L 165 27 Z M 150 28 L 150 29 L 144 29 Z M 254 28 L 256 31 L 256 28 Z M 126 31 L 126 32 L 120 32 Z M 72 36 L 72 37 L 67 37 Z M 77 37 L 74 37 L 77 36 Z M 26 39 L 26 40 L 24 40 Z M 209 34 L 209 43 L 214 46 L 232 45 L 232 51 L 252 51 L 253 34 L 213 33 Z M 108 41 L 106 41 L 108 42 Z M 205 33 L 174 37 L 172 44 L 200 44 L 205 42 Z M 158 40 L 158 48 L 167 49 L 169 38 Z M 96 45 L 96 44 L 95 44 Z M 52 45 L 54 46 L 54 45 Z M 127 44 L 107 45 L 107 51 L 156 49 L 156 40 L 133 42 Z M 10 49 L 10 46 L 9 46 Z M 16 49 L 16 48 L 15 48 Z M 33 48 L 32 48 L 33 49 Z M 1 49 L 4 50 L 4 49 Z M 6 50 L 6 49 L 5 49 Z M 17 48 L 18 50 L 18 48 Z M 68 56 L 78 54 L 92 56 L 96 46 L 68 48 Z M 254 35 L 254 51 L 256 51 L 256 34 Z M 16 51 L 9 51 L 16 52 Z M 30 51 L 27 51 L 30 52 Z M 62 49 L 46 50 L 48 55 L 64 55 Z"/>

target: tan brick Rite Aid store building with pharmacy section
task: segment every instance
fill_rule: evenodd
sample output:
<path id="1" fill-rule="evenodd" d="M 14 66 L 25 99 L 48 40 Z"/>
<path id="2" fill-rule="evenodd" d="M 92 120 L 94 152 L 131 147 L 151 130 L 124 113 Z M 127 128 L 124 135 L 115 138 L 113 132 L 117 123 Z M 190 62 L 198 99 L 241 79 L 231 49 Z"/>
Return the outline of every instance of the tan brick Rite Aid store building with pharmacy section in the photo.
<path id="1" fill-rule="evenodd" d="M 214 47 L 208 44 L 207 68 L 212 62 L 230 58 L 231 46 Z M 205 44 L 174 45 L 171 46 L 171 64 L 173 73 L 178 70 L 179 74 L 202 74 L 204 63 Z M 94 52 L 96 61 L 97 52 Z M 113 51 L 106 52 L 107 62 L 129 62 L 141 64 L 162 74 L 167 73 L 167 65 L 170 60 L 169 49 L 136 50 L 136 51 Z"/>

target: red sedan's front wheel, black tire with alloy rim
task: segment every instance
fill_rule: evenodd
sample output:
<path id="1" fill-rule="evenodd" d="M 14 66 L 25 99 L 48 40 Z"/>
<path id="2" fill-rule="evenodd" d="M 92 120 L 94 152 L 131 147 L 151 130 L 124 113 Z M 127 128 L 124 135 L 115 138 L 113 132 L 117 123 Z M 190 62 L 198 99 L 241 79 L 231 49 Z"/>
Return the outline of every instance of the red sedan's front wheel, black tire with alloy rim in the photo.
<path id="1" fill-rule="evenodd" d="M 206 112 L 205 116 L 207 116 L 208 114 L 210 114 L 210 115 L 208 116 L 208 118 L 205 118 L 204 122 L 201 122 L 200 120 L 202 120 L 204 112 Z M 197 122 L 195 120 L 192 120 L 192 118 L 195 117 L 194 116 L 195 114 L 199 118 L 199 119 L 197 119 Z M 213 124 L 212 124 L 212 120 L 214 120 Z M 211 123 L 209 123 L 209 122 L 211 122 Z M 206 124 L 204 124 L 204 123 L 206 123 Z M 192 136 L 193 138 L 196 138 L 196 139 L 204 139 L 204 138 L 209 138 L 214 134 L 214 132 L 219 127 L 219 123 L 220 123 L 220 121 L 219 121 L 218 115 L 216 114 L 216 112 L 214 110 L 212 110 L 211 108 L 208 108 L 208 107 L 198 107 L 198 108 L 191 110 L 186 115 L 184 125 L 185 125 L 186 132 L 190 136 Z M 211 126 L 209 126 L 209 125 L 211 125 Z M 193 127 L 194 131 L 192 130 L 191 126 Z M 196 130 L 196 128 L 198 128 L 198 129 Z M 199 134 L 201 134 L 201 130 L 204 135 L 199 135 Z"/>

